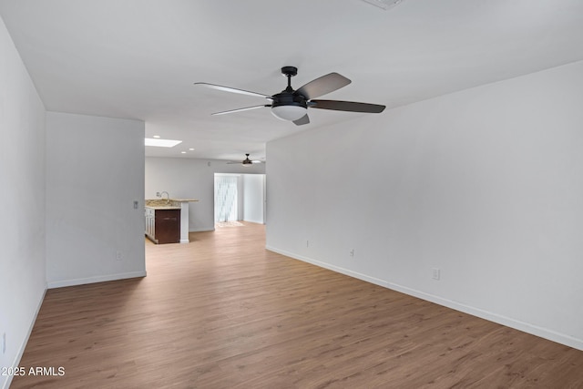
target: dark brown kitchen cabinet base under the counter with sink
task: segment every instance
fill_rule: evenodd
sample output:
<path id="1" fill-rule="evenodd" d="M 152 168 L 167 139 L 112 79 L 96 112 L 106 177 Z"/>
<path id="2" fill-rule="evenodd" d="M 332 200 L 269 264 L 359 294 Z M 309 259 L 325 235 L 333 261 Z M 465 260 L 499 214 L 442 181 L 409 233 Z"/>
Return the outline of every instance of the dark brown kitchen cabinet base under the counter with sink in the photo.
<path id="1" fill-rule="evenodd" d="M 146 236 L 154 243 L 180 241 L 180 210 L 146 209 Z"/>

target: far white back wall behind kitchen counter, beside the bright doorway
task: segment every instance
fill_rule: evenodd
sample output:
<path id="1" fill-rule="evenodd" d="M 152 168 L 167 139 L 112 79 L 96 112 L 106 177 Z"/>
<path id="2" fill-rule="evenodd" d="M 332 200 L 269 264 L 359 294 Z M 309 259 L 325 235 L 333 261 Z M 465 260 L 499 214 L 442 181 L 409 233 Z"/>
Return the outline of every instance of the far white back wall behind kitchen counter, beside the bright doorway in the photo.
<path id="1" fill-rule="evenodd" d="M 146 199 L 168 191 L 170 198 L 189 203 L 189 231 L 214 230 L 214 174 L 265 172 L 265 164 L 229 165 L 224 160 L 146 158 Z"/>

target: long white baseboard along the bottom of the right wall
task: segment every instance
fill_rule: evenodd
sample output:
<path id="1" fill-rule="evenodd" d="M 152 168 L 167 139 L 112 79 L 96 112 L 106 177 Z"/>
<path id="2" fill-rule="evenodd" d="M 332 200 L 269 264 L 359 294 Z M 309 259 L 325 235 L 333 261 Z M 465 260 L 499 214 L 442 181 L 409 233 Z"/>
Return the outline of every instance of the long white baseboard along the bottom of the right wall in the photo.
<path id="1" fill-rule="evenodd" d="M 523 333 L 530 333 L 532 335 L 536 335 L 538 337 L 547 339 L 549 341 L 565 344 L 569 347 L 573 347 L 575 349 L 583 351 L 583 340 L 578 339 L 578 338 L 574 338 L 574 337 L 569 336 L 565 333 L 557 333 L 556 331 L 553 331 L 553 330 L 550 330 L 550 329 L 547 329 L 544 327 L 539 327 L 537 325 L 530 324 L 528 322 L 521 322 L 521 321 L 518 321 L 516 319 L 497 314 L 496 312 L 489 312 L 489 311 L 485 311 L 485 310 L 482 310 L 482 309 L 479 309 L 476 307 L 472 307 L 470 305 L 465 305 L 465 304 L 460 303 L 460 302 L 454 302 L 454 301 L 436 296 L 434 294 L 417 291 L 417 290 L 408 288 L 406 286 L 396 284 L 394 282 L 387 282 L 387 281 L 384 281 L 381 279 L 377 279 L 377 278 L 368 276 L 366 274 L 362 274 L 362 273 L 359 273 L 356 271 L 344 269 L 344 268 L 332 265 L 330 263 L 313 260 L 312 258 L 304 257 L 302 255 L 293 254 L 292 252 L 282 251 L 282 250 L 279 250 L 279 249 L 271 247 L 271 246 L 266 246 L 266 249 L 269 251 L 277 252 L 281 255 L 285 255 L 286 257 L 290 257 L 290 258 L 295 259 L 295 260 L 312 263 L 313 265 L 322 267 L 324 269 L 336 271 L 336 272 L 351 276 L 353 278 L 363 280 L 365 282 L 371 282 L 375 285 L 384 286 L 385 288 L 394 290 L 396 292 L 402 292 L 404 294 L 408 294 L 410 296 L 417 297 L 417 298 L 425 300 L 427 302 L 435 302 L 436 304 L 445 306 L 447 308 L 454 309 L 455 311 L 468 313 L 468 314 L 471 314 L 473 316 L 476 316 L 476 317 L 479 317 L 482 319 L 486 319 L 487 321 L 490 321 L 490 322 L 496 322 L 498 324 L 506 325 L 506 327 L 514 328 L 518 331 L 522 331 Z"/>

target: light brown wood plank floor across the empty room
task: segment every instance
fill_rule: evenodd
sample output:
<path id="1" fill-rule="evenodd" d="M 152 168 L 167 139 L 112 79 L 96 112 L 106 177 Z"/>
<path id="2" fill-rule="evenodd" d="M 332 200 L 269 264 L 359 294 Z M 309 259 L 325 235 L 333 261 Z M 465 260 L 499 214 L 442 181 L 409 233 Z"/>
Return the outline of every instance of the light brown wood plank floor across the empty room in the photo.
<path id="1" fill-rule="evenodd" d="M 583 352 L 266 251 L 262 225 L 190 240 L 47 291 L 20 365 L 65 374 L 11 387 L 583 388 Z"/>

